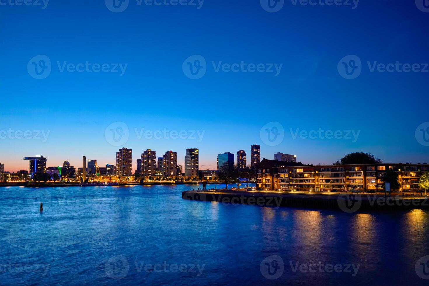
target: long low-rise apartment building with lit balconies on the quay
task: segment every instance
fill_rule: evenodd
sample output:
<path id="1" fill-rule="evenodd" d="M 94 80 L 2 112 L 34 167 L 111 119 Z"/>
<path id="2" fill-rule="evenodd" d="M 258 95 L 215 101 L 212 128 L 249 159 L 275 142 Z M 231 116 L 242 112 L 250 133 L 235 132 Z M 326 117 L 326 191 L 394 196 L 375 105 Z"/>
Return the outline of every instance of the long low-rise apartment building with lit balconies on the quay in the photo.
<path id="1" fill-rule="evenodd" d="M 428 164 L 356 164 L 308 166 L 300 163 L 282 162 L 274 164 L 263 160 L 257 166 L 257 186 L 270 190 L 297 191 L 379 191 L 384 192 L 382 181 L 386 170 L 398 173 L 401 185 L 399 191 L 413 192 L 419 190 L 419 178 L 429 171 Z M 274 161 L 280 162 L 280 161 Z M 293 166 L 290 166 L 292 165 Z"/>

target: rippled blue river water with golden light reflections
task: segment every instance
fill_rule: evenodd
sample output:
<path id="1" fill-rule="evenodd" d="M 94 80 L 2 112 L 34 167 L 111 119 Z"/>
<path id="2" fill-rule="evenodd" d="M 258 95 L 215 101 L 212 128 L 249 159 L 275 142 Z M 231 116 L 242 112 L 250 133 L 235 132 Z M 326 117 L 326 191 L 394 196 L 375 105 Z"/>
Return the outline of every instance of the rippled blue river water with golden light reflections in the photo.
<path id="1" fill-rule="evenodd" d="M 428 211 L 191 203 L 190 188 L 0 188 L 0 284 L 429 285 Z"/>

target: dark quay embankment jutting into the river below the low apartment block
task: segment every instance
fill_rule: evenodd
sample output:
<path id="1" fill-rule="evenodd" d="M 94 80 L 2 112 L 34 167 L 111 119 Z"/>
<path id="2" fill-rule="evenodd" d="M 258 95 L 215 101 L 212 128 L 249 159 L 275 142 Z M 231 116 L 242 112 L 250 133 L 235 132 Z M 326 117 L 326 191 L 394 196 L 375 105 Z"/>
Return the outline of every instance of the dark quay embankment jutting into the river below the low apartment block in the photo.
<path id="1" fill-rule="evenodd" d="M 187 191 L 182 199 L 219 202 L 226 205 L 259 205 L 268 207 L 338 209 L 348 213 L 356 211 L 397 211 L 414 208 L 429 209 L 429 200 L 419 196 L 391 196 L 355 193 L 286 193 L 245 191 Z"/>

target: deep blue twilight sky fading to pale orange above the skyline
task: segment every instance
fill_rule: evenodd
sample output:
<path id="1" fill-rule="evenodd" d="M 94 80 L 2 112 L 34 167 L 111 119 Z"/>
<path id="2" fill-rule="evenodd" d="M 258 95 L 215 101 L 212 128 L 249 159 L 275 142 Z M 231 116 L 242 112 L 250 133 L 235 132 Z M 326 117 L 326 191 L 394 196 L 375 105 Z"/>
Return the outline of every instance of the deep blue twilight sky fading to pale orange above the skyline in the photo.
<path id="1" fill-rule="evenodd" d="M 283 152 L 309 164 L 329 164 L 353 151 L 385 162 L 429 163 L 429 147 L 415 136 L 417 126 L 429 121 L 429 73 L 371 72 L 367 63 L 399 61 L 423 68 L 429 62 L 429 12 L 414 1 L 360 0 L 352 9 L 353 3 L 304 6 L 285 0 L 272 13 L 260 0 L 205 0 L 201 9 L 130 0 L 118 13 L 104 0 L 50 0 L 45 9 L 8 1 L 0 6 L 0 130 L 49 135 L 46 142 L 2 137 L 0 163 L 7 171 L 27 169 L 22 157 L 36 154 L 48 157 L 48 166 L 68 159 L 77 167 L 82 155 L 100 165 L 115 164 L 121 147 L 133 149 L 134 165 L 145 149 L 158 156 L 176 151 L 183 164 L 186 148 L 199 148 L 200 169 L 215 169 L 217 154 L 227 151 L 244 149 L 250 163 L 251 144 L 261 145 L 261 157 Z M 27 70 L 38 55 L 51 60 L 44 79 Z M 206 61 L 199 79 L 182 70 L 193 55 Z M 355 79 L 338 72 L 347 55 L 362 62 Z M 87 61 L 127 67 L 119 75 L 61 72 L 57 64 Z M 216 72 L 212 63 L 242 61 L 282 67 L 275 76 Z M 112 146 L 105 131 L 118 121 L 126 123 L 129 139 Z M 270 122 L 284 128 L 284 139 L 275 146 L 260 136 Z M 204 136 L 200 142 L 138 138 L 135 130 L 142 128 L 198 130 Z M 294 138 L 298 128 L 343 135 L 353 130 L 359 136 L 355 142 Z"/>

